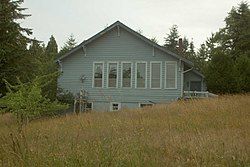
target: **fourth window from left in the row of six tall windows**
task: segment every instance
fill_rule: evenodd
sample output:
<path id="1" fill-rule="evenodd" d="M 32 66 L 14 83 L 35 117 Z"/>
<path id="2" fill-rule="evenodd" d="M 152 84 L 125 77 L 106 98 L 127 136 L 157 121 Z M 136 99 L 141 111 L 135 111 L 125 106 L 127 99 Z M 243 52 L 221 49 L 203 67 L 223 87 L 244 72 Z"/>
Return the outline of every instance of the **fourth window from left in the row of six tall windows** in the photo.
<path id="1" fill-rule="evenodd" d="M 147 64 L 146 62 L 136 63 L 136 88 L 146 88 Z"/>

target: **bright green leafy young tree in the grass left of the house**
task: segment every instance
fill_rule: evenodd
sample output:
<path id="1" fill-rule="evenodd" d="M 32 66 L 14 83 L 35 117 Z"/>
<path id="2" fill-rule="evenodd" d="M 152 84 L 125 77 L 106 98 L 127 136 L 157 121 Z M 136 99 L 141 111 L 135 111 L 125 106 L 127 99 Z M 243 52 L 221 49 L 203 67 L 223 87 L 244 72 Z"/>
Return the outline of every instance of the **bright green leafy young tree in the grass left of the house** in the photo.
<path id="1" fill-rule="evenodd" d="M 10 92 L 0 99 L 0 104 L 6 107 L 5 112 L 16 116 L 20 126 L 29 120 L 67 108 L 66 105 L 51 102 L 42 96 L 42 87 L 47 84 L 44 82 L 48 77 L 51 76 L 39 77 L 26 84 L 19 80 L 17 86 L 12 86 L 6 81 Z"/>

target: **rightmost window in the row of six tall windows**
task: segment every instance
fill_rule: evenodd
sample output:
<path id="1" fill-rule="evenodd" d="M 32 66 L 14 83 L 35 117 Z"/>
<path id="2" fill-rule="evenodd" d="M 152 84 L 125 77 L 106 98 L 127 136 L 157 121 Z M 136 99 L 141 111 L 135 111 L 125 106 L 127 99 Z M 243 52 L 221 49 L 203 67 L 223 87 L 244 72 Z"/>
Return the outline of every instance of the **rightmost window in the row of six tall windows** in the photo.
<path id="1" fill-rule="evenodd" d="M 166 62 L 166 78 L 165 78 L 166 89 L 177 88 L 177 62 Z"/>

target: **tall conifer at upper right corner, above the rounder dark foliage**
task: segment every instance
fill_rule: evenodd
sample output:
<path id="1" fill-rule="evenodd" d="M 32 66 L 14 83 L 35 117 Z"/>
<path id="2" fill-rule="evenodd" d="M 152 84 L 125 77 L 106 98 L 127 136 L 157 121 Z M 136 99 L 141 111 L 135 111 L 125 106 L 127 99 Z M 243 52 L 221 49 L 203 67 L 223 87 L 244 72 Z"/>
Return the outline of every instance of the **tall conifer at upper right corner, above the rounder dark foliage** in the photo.
<path id="1" fill-rule="evenodd" d="M 226 27 L 218 32 L 220 45 L 228 49 L 234 60 L 240 55 L 250 58 L 250 9 L 246 2 L 233 7 L 225 19 Z"/>

